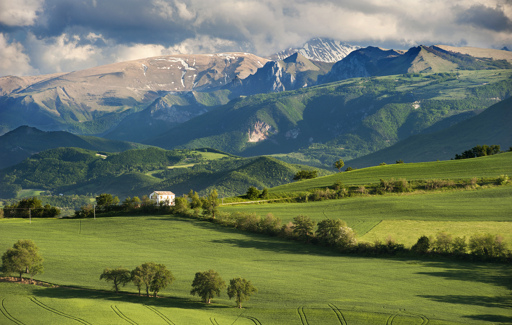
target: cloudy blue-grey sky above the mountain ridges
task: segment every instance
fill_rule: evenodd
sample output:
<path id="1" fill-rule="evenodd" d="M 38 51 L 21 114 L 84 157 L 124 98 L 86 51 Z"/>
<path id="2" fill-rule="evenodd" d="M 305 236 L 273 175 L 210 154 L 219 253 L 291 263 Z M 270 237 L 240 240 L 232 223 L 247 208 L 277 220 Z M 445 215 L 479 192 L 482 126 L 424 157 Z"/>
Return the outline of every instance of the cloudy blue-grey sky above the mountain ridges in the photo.
<path id="1" fill-rule="evenodd" d="M 167 54 L 353 45 L 512 50 L 512 0 L 0 0 L 0 76 Z"/>

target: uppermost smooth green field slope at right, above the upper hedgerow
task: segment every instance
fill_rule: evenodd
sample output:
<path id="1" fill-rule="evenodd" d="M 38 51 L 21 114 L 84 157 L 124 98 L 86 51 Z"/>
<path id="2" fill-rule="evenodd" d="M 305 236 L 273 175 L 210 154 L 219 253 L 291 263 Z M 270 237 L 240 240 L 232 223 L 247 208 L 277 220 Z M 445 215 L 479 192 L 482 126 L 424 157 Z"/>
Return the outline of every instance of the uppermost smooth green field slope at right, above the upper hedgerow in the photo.
<path id="1" fill-rule="evenodd" d="M 399 157 L 397 157 L 398 159 Z M 345 167 L 349 166 L 346 164 Z M 344 168 L 345 168 L 344 167 Z M 407 180 L 457 179 L 472 177 L 496 177 L 512 175 L 512 153 L 503 153 L 462 160 L 433 161 L 410 164 L 391 164 L 346 171 L 334 175 L 289 183 L 269 189 L 271 192 L 302 191 L 315 187 L 326 187 L 337 180 L 344 184 L 378 183 L 392 177 Z"/>

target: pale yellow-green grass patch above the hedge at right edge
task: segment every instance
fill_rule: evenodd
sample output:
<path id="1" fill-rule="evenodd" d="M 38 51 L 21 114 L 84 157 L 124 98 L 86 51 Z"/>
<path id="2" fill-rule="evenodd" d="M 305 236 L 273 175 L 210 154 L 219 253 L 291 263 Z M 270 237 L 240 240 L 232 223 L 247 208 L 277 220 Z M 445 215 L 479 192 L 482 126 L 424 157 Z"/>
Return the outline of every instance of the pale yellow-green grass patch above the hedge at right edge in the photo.
<path id="1" fill-rule="evenodd" d="M 397 242 L 411 247 L 420 236 L 435 237 L 440 231 L 451 233 L 454 237 L 466 236 L 466 239 L 475 232 L 502 234 L 509 249 L 512 244 L 512 222 L 497 221 L 383 220 L 359 237 L 359 240 L 373 243 L 374 240 L 382 240 L 392 234 Z"/>

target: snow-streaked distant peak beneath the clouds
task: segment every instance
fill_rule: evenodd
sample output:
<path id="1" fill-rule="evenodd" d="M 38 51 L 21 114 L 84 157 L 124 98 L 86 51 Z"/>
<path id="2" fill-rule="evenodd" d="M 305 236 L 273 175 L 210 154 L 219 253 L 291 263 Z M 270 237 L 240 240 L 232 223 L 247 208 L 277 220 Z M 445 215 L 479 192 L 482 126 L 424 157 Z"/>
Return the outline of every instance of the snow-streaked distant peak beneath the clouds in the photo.
<path id="1" fill-rule="evenodd" d="M 272 61 L 280 61 L 295 52 L 298 52 L 310 60 L 323 62 L 336 62 L 346 57 L 350 52 L 362 47 L 358 45 L 348 44 L 340 40 L 331 38 L 313 38 L 300 48 L 288 48 L 272 55 L 264 56 L 264 58 Z"/>

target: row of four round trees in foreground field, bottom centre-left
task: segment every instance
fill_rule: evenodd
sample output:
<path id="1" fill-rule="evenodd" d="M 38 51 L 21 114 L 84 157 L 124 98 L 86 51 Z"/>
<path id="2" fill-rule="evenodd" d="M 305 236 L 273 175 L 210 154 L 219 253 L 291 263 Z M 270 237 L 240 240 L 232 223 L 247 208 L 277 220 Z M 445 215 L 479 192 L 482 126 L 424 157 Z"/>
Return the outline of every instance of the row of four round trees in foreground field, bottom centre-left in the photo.
<path id="1" fill-rule="evenodd" d="M 132 283 L 139 290 L 146 288 L 146 295 L 150 296 L 153 292 L 158 297 L 158 292 L 173 284 L 176 278 L 173 273 L 167 270 L 163 264 L 153 262 L 143 263 L 130 271 L 126 268 L 104 269 L 100 275 L 100 280 L 112 283 L 112 289 L 119 293 L 119 287 Z M 215 270 L 197 272 L 192 281 L 191 295 L 198 295 L 206 304 L 211 303 L 215 296 L 219 297 L 221 292 L 226 290 L 226 283 Z M 242 302 L 249 300 L 250 296 L 258 292 L 258 289 L 251 284 L 251 281 L 245 278 L 233 278 L 229 280 L 227 294 L 229 299 L 235 298 L 239 308 L 242 308 Z"/>

